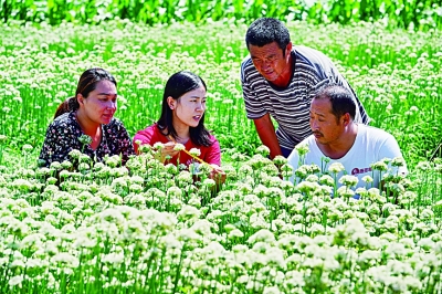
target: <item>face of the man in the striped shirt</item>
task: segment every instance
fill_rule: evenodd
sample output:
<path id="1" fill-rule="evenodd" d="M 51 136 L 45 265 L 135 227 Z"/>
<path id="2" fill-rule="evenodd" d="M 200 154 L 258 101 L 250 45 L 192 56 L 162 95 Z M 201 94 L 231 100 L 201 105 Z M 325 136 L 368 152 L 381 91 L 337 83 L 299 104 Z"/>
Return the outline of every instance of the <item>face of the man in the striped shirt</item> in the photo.
<path id="1" fill-rule="evenodd" d="M 249 44 L 249 52 L 256 71 L 270 82 L 276 81 L 282 73 L 290 69 L 292 43 L 283 51 L 276 42 L 254 46 Z M 285 54 L 283 54 L 285 53 Z"/>

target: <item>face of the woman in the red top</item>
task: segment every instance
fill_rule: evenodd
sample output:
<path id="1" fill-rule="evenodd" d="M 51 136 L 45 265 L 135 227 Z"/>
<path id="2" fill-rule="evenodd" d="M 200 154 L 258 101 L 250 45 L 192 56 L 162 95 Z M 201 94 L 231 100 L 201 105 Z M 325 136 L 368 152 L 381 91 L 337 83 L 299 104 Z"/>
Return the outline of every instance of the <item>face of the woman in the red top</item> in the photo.
<path id="1" fill-rule="evenodd" d="M 173 113 L 173 126 L 197 127 L 206 112 L 206 88 L 189 91 L 179 99 L 168 98 Z"/>

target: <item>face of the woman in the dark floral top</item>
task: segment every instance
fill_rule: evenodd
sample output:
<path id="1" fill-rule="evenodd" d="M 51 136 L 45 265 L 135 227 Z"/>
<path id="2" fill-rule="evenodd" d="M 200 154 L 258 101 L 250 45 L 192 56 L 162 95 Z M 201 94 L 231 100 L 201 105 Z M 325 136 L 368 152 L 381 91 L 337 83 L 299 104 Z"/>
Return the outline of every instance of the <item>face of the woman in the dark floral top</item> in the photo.
<path id="1" fill-rule="evenodd" d="M 97 83 L 86 98 L 83 98 L 84 113 L 87 118 L 96 124 L 107 125 L 110 123 L 117 109 L 117 90 L 110 81 Z M 80 101 L 78 101 L 80 102 Z"/>

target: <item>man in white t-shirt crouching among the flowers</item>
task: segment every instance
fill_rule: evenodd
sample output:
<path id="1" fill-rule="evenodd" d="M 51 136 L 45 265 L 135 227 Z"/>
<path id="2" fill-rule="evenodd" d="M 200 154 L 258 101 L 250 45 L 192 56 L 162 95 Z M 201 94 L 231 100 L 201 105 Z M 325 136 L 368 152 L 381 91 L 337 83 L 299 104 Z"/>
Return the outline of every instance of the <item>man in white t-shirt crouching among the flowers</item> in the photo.
<path id="1" fill-rule="evenodd" d="M 328 85 L 322 88 L 313 98 L 309 113 L 313 135 L 301 141 L 290 155 L 288 164 L 294 170 L 303 164 L 315 164 L 327 171 L 332 164 L 340 162 L 345 170 L 337 175 L 338 178 L 343 175 L 356 176 L 359 179 L 358 188 L 366 187 L 361 179 L 370 176 L 373 181 L 369 187 L 379 187 L 380 172 L 372 170 L 370 165 L 385 158 L 402 157 L 392 135 L 354 122 L 356 104 L 351 93 L 343 86 Z M 308 145 L 309 151 L 299 156 L 298 148 L 305 145 Z M 390 164 L 388 168 L 388 172 L 393 175 L 408 174 L 406 165 L 396 167 Z M 292 176 L 291 181 L 294 180 L 295 176 Z"/>

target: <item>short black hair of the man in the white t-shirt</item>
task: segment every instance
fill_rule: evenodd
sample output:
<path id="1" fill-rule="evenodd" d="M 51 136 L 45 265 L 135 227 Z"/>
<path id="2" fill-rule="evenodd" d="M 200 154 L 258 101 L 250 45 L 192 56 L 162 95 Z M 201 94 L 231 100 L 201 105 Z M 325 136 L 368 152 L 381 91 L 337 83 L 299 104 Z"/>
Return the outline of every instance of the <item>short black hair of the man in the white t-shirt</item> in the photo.
<path id="1" fill-rule="evenodd" d="M 314 98 L 328 98 L 332 103 L 332 113 L 335 115 L 336 119 L 339 119 L 346 113 L 350 115 L 351 119 L 355 119 L 355 98 L 346 87 L 337 84 L 328 84 L 322 87 Z"/>

